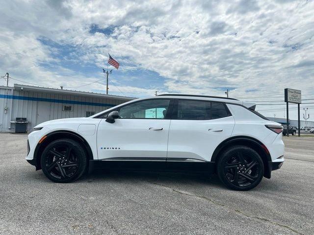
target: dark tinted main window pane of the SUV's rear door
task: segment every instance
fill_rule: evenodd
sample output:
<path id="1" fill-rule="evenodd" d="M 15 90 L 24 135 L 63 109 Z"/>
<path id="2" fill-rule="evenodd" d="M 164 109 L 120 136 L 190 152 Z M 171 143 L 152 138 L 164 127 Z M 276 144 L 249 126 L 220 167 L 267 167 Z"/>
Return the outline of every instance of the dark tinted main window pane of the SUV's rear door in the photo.
<path id="1" fill-rule="evenodd" d="M 178 100 L 178 119 L 210 119 L 210 102 L 198 100 Z"/>

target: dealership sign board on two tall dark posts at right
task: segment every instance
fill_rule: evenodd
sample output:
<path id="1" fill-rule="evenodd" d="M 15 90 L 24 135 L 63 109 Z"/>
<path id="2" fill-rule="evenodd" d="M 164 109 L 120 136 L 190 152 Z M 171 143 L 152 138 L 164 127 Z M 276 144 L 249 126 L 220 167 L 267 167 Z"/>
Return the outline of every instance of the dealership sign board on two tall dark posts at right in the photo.
<path id="1" fill-rule="evenodd" d="M 289 136 L 289 102 L 298 104 L 298 136 L 300 136 L 300 104 L 302 102 L 301 91 L 285 88 L 285 102 L 287 103 L 287 136 Z"/>

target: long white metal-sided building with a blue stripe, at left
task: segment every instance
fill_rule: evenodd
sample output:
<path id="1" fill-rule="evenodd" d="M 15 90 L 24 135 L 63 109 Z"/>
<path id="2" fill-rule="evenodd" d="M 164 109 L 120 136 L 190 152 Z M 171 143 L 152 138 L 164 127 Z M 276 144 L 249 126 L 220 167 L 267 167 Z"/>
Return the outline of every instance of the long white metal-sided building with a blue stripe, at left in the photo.
<path id="1" fill-rule="evenodd" d="M 27 131 L 44 121 L 89 117 L 134 98 L 14 84 L 0 86 L 0 132 L 15 132 L 16 118 L 29 121 Z"/>

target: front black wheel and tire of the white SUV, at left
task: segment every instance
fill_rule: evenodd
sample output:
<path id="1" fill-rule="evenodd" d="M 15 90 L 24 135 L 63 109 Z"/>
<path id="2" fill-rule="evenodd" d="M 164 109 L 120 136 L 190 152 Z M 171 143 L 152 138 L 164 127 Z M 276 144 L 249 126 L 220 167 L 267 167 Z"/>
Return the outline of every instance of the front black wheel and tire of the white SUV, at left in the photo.
<path id="1" fill-rule="evenodd" d="M 40 164 L 48 179 L 56 183 L 70 183 L 86 171 L 87 154 L 77 141 L 60 139 L 47 145 Z"/>

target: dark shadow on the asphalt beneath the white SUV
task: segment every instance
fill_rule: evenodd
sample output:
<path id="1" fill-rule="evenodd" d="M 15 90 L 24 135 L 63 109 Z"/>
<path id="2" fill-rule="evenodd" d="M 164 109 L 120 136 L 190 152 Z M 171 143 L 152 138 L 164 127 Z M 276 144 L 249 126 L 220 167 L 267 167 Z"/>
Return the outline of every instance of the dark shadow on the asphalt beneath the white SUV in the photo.
<path id="1" fill-rule="evenodd" d="M 35 179 L 37 183 L 51 182 L 40 171 L 29 171 L 29 177 Z M 40 183 L 40 184 L 41 184 Z M 52 182 L 51 182 L 52 183 Z M 159 186 L 175 186 L 178 188 L 202 188 L 202 189 L 227 189 L 220 182 L 216 174 L 205 173 L 182 173 L 182 172 L 163 172 L 163 171 L 108 171 L 94 170 L 86 174 L 71 184 L 126 184 L 138 185 L 140 183 L 151 183 Z M 285 185 L 276 179 L 263 179 L 262 182 L 250 191 L 278 191 L 283 190 Z"/>

